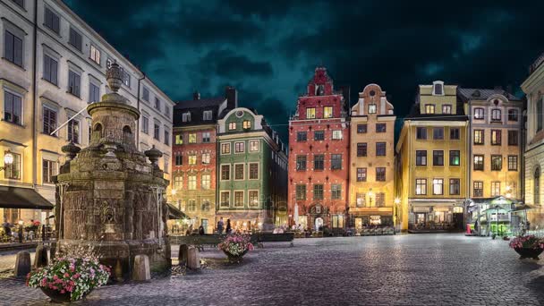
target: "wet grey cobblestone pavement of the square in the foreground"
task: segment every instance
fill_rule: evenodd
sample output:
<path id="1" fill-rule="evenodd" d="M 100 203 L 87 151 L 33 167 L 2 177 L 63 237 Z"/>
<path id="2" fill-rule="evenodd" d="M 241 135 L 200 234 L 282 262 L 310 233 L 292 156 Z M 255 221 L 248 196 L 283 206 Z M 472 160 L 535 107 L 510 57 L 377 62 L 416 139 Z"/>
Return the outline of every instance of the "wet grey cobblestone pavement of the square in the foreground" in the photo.
<path id="1" fill-rule="evenodd" d="M 507 242 L 462 234 L 346 237 L 268 243 L 237 267 L 151 283 L 108 285 L 89 305 L 544 305 L 544 259 L 519 260 Z M 174 248 L 176 249 L 176 248 Z M 222 258 L 204 251 L 208 262 Z M 217 260 L 216 260 L 217 262 Z M 0 303 L 47 303 L 0 279 Z"/>

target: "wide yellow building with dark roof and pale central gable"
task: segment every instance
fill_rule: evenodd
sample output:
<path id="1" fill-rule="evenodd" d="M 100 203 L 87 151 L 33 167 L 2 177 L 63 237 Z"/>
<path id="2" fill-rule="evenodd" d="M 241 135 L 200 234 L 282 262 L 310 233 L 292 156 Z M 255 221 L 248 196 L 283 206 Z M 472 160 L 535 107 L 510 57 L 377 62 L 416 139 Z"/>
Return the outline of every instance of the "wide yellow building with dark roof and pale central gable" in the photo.
<path id="1" fill-rule="evenodd" d="M 403 230 L 463 228 L 468 118 L 457 86 L 420 85 L 396 144 L 396 192 Z"/>

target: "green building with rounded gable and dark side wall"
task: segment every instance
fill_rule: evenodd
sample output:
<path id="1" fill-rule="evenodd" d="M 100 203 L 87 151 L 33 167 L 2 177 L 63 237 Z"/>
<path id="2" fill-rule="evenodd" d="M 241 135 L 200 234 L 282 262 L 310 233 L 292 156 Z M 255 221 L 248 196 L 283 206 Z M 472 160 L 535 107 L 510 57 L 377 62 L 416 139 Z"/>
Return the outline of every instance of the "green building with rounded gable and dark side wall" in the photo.
<path id="1" fill-rule="evenodd" d="M 218 120 L 217 219 L 234 229 L 287 224 L 287 153 L 262 115 L 237 107 Z"/>

